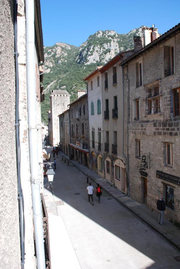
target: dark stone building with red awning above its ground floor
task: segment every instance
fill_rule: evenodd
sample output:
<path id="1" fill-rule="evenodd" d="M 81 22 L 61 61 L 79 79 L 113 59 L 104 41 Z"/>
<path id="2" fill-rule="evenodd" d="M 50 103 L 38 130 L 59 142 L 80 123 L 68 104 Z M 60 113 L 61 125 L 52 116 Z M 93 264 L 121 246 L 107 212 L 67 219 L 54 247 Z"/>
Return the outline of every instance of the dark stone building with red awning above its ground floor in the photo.
<path id="1" fill-rule="evenodd" d="M 69 104 L 69 124 L 71 155 L 90 167 L 87 94 Z"/>

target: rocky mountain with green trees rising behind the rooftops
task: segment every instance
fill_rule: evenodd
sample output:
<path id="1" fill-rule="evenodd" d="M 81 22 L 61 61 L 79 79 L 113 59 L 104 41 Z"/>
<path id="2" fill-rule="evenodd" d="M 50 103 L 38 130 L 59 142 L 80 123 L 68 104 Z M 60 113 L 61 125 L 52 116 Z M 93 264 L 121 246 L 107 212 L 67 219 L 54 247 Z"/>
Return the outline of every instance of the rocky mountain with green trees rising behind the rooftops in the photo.
<path id="1" fill-rule="evenodd" d="M 83 78 L 120 51 L 132 49 L 133 36 L 142 36 L 142 27 L 127 34 L 118 34 L 114 30 L 99 30 L 79 47 L 61 42 L 52 47 L 44 47 L 43 85 L 46 96 L 45 102 L 41 105 L 42 121 L 47 123 L 51 89 L 66 89 L 71 94 L 71 101 L 75 100 L 77 90 L 86 87 Z"/>

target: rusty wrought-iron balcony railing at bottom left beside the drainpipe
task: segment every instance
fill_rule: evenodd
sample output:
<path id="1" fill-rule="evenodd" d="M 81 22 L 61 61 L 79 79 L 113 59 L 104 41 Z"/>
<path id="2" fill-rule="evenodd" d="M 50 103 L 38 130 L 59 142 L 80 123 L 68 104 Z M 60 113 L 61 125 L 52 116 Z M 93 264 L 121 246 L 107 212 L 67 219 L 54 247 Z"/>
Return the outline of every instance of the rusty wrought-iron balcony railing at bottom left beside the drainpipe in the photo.
<path id="1" fill-rule="evenodd" d="M 46 269 L 51 269 L 48 212 L 46 209 L 44 196 L 42 193 L 40 193 L 40 195 L 41 195 L 41 201 L 42 201 L 42 225 L 43 225 L 43 236 L 44 236 L 45 262 L 47 265 Z"/>

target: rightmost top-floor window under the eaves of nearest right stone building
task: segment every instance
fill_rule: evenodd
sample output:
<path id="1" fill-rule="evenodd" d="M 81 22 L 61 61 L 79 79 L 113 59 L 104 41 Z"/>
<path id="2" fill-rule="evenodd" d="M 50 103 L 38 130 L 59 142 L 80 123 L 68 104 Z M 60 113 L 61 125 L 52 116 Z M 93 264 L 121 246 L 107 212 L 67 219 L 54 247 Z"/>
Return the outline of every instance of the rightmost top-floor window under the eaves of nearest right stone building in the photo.
<path id="1" fill-rule="evenodd" d="M 164 46 L 164 77 L 174 74 L 174 47 Z"/>

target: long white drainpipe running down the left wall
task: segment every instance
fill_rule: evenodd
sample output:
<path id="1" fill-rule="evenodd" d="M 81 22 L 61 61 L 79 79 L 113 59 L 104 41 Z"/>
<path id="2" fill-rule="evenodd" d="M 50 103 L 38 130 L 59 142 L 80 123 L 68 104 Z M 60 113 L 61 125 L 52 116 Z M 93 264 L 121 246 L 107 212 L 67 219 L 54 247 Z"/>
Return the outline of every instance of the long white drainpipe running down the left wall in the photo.
<path id="1" fill-rule="evenodd" d="M 34 0 L 25 0 L 26 6 L 26 71 L 28 95 L 28 135 L 33 204 L 33 222 L 36 243 L 37 268 L 45 269 L 45 252 L 42 226 L 42 205 L 40 199 L 40 174 L 38 163 L 38 136 L 36 120 L 36 71 L 35 71 L 35 33 Z"/>

